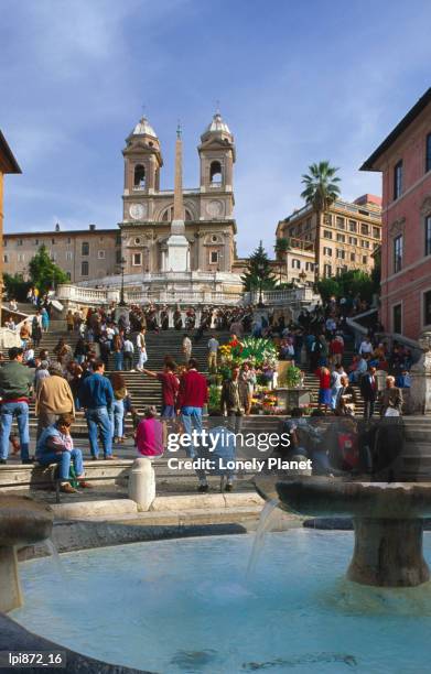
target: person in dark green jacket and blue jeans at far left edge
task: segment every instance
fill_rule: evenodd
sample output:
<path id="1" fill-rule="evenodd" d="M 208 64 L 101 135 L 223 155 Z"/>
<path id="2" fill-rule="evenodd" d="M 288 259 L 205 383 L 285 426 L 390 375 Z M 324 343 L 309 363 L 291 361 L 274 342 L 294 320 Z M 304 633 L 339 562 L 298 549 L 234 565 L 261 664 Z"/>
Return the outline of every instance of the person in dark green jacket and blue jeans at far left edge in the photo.
<path id="1" fill-rule="evenodd" d="M 32 391 L 34 372 L 26 368 L 23 349 L 9 349 L 9 362 L 0 368 L 0 464 L 6 464 L 9 453 L 9 437 L 13 418 L 17 418 L 20 435 L 21 460 L 31 464 L 29 456 L 29 396 Z"/>

